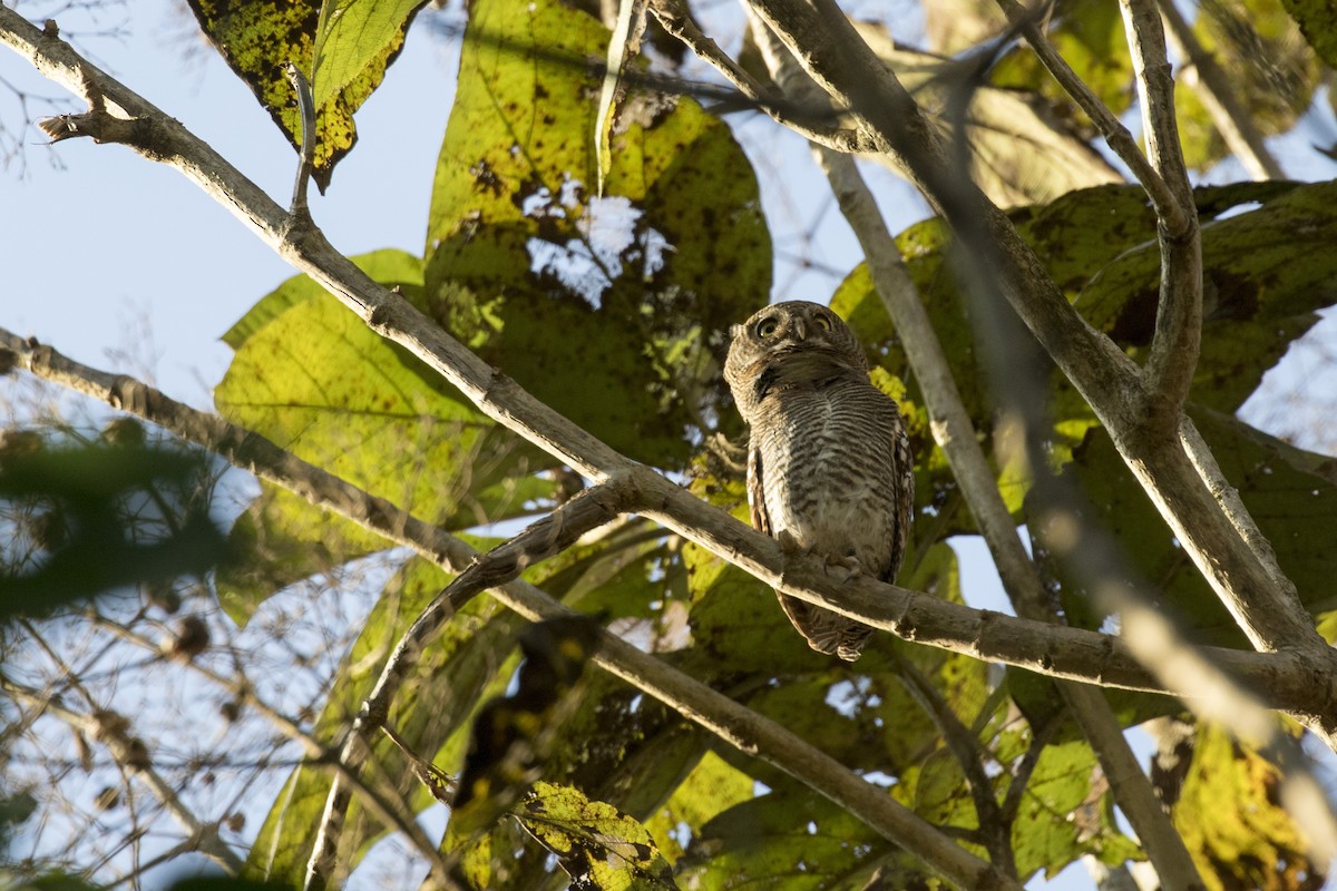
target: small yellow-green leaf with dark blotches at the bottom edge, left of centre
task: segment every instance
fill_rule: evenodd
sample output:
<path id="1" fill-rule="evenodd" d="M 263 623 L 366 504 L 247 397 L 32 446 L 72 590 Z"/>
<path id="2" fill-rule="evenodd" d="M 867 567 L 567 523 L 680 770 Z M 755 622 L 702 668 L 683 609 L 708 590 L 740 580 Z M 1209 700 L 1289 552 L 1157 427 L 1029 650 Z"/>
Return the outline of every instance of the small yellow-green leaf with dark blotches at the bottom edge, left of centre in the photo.
<path id="1" fill-rule="evenodd" d="M 591 891 L 677 888 L 673 867 L 640 823 L 579 789 L 535 783 L 515 816 L 556 855 L 572 887 Z"/>

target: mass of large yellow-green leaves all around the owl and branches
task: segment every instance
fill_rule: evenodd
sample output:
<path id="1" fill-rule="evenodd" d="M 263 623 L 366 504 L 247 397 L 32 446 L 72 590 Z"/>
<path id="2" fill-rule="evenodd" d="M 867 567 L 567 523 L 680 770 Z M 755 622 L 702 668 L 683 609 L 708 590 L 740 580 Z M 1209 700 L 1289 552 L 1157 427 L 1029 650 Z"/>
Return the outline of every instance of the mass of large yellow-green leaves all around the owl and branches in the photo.
<path id="1" fill-rule="evenodd" d="M 312 60 L 316 179 L 325 186 L 353 147 L 353 110 L 393 61 L 418 4 L 249 5 L 255 15 L 239 16 L 229 3 L 191 3 L 205 32 L 294 142 L 297 111 L 279 64 Z M 951 15 L 964 27 L 960 9 Z M 1330 24 L 1271 0 L 1241 0 L 1203 4 L 1195 28 L 1206 47 L 1235 60 L 1231 84 L 1261 124 L 1289 131 L 1325 71 Z M 757 176 L 729 127 L 690 95 L 671 91 L 632 91 L 623 100 L 603 170 L 594 136 L 603 75 L 587 60 L 604 57 L 608 35 L 590 11 L 560 0 L 473 0 L 425 247 L 421 255 L 382 250 L 354 259 L 529 393 L 745 518 L 737 456 L 725 445 L 737 442 L 742 427 L 725 398 L 721 359 L 729 325 L 770 299 L 771 244 Z M 1051 35 L 1100 99 L 1124 111 L 1134 73 L 1114 4 L 1074 0 L 1059 9 Z M 960 32 L 935 29 L 932 19 L 929 36 L 935 52 L 960 48 L 953 44 Z M 667 40 L 654 31 L 650 39 Z M 1285 75 L 1282 92 L 1275 77 L 1227 49 L 1242 39 L 1286 47 L 1284 71 L 1263 72 Z M 1273 57 L 1266 53 L 1247 59 Z M 888 61 L 917 69 L 924 57 L 889 49 Z M 992 134 L 972 146 L 981 184 L 1015 207 L 1020 232 L 1087 321 L 1140 358 L 1155 322 L 1161 264 L 1157 219 L 1142 190 L 1118 182 L 1086 148 L 1090 122 L 1067 111 L 1025 48 L 1003 55 L 989 77 L 976 84 L 972 106 L 972 124 Z M 923 95 L 955 88 L 944 83 L 929 77 Z M 1185 144 L 1191 163 L 1206 168 L 1226 150 L 1195 103 L 1185 90 Z M 1012 131 L 989 126 L 1000 120 Z M 1042 160 L 1060 151 L 1074 159 L 1064 170 L 1075 182 L 1056 187 Z M 1205 223 L 1209 306 L 1190 415 L 1326 631 L 1337 627 L 1324 584 L 1330 572 L 1324 518 L 1337 513 L 1330 461 L 1234 415 L 1318 313 L 1337 302 L 1330 285 L 1337 184 L 1203 187 L 1195 202 Z M 965 406 L 991 442 L 991 387 L 951 270 L 951 234 L 928 219 L 898 244 Z M 915 446 L 920 496 L 898 584 L 961 601 L 948 540 L 976 528 L 865 266 L 850 271 L 830 305 L 864 343 L 874 383 L 900 401 Z M 225 339 L 235 350 L 215 390 L 225 418 L 480 549 L 496 541 L 480 528 L 541 513 L 571 494 L 572 474 L 558 460 L 487 417 L 305 277 L 259 299 Z M 1052 394 L 1054 466 L 1080 482 L 1194 640 L 1241 644 L 1238 627 L 1087 403 L 1056 373 Z M 1000 461 L 997 476 L 1016 522 L 1032 522 L 1024 470 Z M 245 624 L 289 585 L 385 550 L 382 538 L 266 484 L 231 528 L 233 558 L 217 568 L 214 592 Z M 48 566 L 60 548 L 52 553 Z M 1080 585 L 1059 566 L 1046 570 L 1070 621 L 1100 628 L 1108 617 L 1087 604 Z M 1000 676 L 979 660 L 888 635 L 857 664 L 822 657 L 792 632 L 762 584 L 640 518 L 582 540 L 525 578 L 790 728 L 1023 880 L 1083 856 L 1108 866 L 1143 856 L 1116 823 L 1098 759 L 1047 679 L 1015 669 Z M 394 640 L 447 581 L 425 560 L 402 560 L 312 721 L 317 740 L 338 744 Z M 503 721 L 496 732 L 504 739 L 541 737 L 524 775 L 541 776 L 540 783 L 523 795 L 512 789 L 488 819 L 472 808 L 461 827 L 452 815 L 441 850 L 456 882 L 477 888 L 558 887 L 563 875 L 582 888 L 939 882 L 913 852 L 608 675 L 587 671 L 563 688 L 560 701 L 544 700 L 539 709 L 499 708 L 520 664 L 524 625 L 485 597 L 455 616 L 393 704 L 397 739 L 376 741 L 365 768 L 424 810 L 435 801 L 433 787 L 416 779 L 424 768 L 414 752 L 448 777 L 440 791 L 449 777 L 480 769 L 467 765 L 471 739 L 479 751 L 480 713 Z M 531 649 L 524 656 L 532 661 Z M 512 691 L 512 699 L 523 695 L 523 684 Z M 1126 725 L 1179 709 L 1152 696 L 1111 693 L 1110 701 Z M 504 724 L 499 712 L 520 717 Z M 541 733 L 535 723 L 560 729 Z M 981 806 L 981 777 L 992 807 Z M 250 843 L 246 875 L 302 883 L 332 779 L 316 764 L 291 771 Z M 1278 772 L 1258 753 L 1203 728 L 1178 781 L 1175 824 L 1210 887 L 1304 888 L 1321 879 L 1324 864 L 1308 863 L 1305 838 L 1278 803 Z M 342 867 L 354 870 L 390 831 L 354 797 L 341 836 Z"/>

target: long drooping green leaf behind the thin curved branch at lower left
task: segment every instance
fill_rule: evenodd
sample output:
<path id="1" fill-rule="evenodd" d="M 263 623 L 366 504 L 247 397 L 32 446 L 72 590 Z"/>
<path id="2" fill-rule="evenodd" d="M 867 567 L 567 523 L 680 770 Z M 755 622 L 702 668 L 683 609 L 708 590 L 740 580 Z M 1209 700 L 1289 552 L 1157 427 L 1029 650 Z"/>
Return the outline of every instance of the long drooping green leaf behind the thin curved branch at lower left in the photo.
<path id="1" fill-rule="evenodd" d="M 370 693 L 393 643 L 448 582 L 440 569 L 413 560 L 393 578 L 377 601 L 365 628 L 340 665 L 329 699 L 316 721 L 314 736 L 334 744 L 348 729 Z M 511 649 L 521 620 L 487 597 L 476 597 L 425 648 L 394 697 L 390 724 L 416 752 L 447 773 L 457 773 L 464 759 L 468 723 L 480 697 L 504 688 L 513 668 L 500 653 Z M 384 736 L 372 743 L 364 776 L 373 785 L 388 783 L 414 810 L 433 803 L 421 788 L 398 748 Z M 251 847 L 246 875 L 299 886 L 316 840 L 329 771 L 299 765 L 289 776 Z M 354 796 L 341 838 L 341 863 L 352 868 L 366 847 L 384 832 Z"/>

